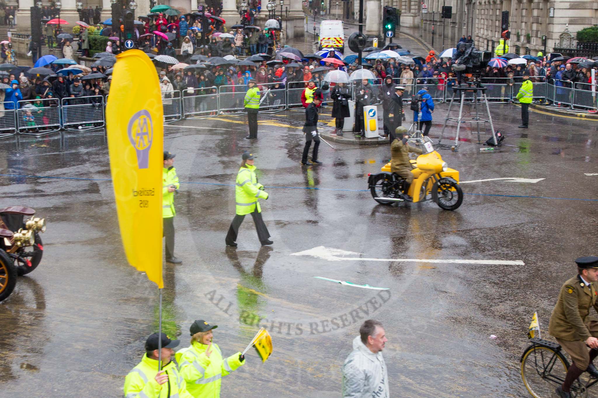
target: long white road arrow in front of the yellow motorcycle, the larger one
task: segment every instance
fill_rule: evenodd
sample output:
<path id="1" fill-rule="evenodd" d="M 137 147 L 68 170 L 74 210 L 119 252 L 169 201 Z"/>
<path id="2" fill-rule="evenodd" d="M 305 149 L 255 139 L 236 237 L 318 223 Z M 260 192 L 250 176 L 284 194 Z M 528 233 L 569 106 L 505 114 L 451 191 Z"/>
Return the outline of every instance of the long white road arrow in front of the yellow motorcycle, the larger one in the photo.
<path id="1" fill-rule="evenodd" d="M 521 260 L 440 260 L 437 258 L 424 260 L 422 258 L 368 258 L 368 257 L 339 257 L 343 255 L 359 255 L 362 253 L 350 252 L 341 249 L 327 248 L 318 246 L 313 249 L 304 250 L 291 255 L 309 255 L 316 258 L 322 258 L 328 261 L 394 261 L 400 263 L 444 263 L 444 264 L 484 264 L 495 266 L 524 266 Z"/>

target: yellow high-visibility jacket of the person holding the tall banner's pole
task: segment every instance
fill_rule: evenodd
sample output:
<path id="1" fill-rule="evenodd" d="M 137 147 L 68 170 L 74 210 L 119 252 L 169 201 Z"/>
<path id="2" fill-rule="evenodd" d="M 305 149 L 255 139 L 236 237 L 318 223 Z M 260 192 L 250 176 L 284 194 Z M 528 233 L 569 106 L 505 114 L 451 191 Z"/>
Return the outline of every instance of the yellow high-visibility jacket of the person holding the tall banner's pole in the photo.
<path id="1" fill-rule="evenodd" d="M 148 358 L 147 354 L 141 362 L 124 378 L 125 398 L 193 398 L 187 391 L 185 380 L 182 378 L 175 363 L 170 361 L 163 366 L 168 374 L 168 381 L 163 385 L 155 381 L 158 373 L 158 361 Z M 170 395 L 169 395 L 170 393 Z"/>

